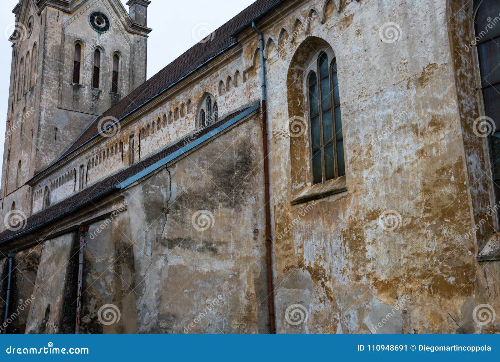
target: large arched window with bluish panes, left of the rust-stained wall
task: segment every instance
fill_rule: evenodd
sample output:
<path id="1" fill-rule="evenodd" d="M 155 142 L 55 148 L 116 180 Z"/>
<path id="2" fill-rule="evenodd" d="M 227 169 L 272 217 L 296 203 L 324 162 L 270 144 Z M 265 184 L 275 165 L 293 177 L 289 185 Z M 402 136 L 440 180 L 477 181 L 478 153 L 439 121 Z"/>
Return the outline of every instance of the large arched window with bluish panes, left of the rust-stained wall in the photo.
<path id="1" fill-rule="evenodd" d="M 330 64 L 327 54 L 320 53 L 314 68 L 307 89 L 312 182 L 317 184 L 343 176 L 345 166 L 336 61 Z"/>

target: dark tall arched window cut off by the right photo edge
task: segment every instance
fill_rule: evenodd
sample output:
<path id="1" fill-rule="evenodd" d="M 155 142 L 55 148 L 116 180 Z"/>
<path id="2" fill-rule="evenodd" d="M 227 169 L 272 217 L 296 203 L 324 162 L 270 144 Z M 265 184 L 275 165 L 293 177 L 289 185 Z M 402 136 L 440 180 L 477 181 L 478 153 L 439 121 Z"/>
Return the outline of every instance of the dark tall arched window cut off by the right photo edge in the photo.
<path id="1" fill-rule="evenodd" d="M 479 60 L 484 115 L 495 125 L 489 136 L 495 203 L 500 202 L 500 23 L 492 23 L 500 14 L 500 3 L 483 0 L 475 17 L 475 41 Z"/>

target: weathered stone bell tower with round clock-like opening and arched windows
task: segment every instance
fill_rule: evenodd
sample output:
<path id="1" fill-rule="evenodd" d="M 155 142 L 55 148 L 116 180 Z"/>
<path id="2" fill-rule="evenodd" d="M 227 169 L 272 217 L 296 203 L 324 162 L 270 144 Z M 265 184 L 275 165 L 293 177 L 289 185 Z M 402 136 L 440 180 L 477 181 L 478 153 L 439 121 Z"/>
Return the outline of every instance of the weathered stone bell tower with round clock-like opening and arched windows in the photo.
<path id="1" fill-rule="evenodd" d="M 147 0 L 19 0 L 1 176 L 3 215 L 31 214 L 31 177 L 146 78 Z"/>

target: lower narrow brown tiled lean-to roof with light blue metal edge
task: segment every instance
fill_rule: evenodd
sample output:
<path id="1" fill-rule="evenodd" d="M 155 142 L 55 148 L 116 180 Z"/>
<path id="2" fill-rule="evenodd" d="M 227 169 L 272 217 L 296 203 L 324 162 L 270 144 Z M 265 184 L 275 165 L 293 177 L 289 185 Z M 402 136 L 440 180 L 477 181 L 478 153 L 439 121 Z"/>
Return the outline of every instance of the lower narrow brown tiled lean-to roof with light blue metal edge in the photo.
<path id="1" fill-rule="evenodd" d="M 143 161 L 137 162 L 132 166 L 117 172 L 114 175 L 108 176 L 102 181 L 98 181 L 93 185 L 81 190 L 77 194 L 68 197 L 60 201 L 59 203 L 52 205 L 44 210 L 41 210 L 26 220 L 22 224 L 20 230 L 4 230 L 0 233 L 0 244 L 24 234 L 27 232 L 34 231 L 44 225 L 50 224 L 57 219 L 62 218 L 64 215 L 74 212 L 76 209 L 85 206 L 86 204 L 97 200 L 98 198 L 109 194 L 110 192 L 117 190 L 122 185 L 128 185 L 131 183 L 131 178 L 134 176 L 143 177 L 149 172 L 152 172 L 158 164 L 166 164 L 165 159 L 168 160 L 168 156 L 175 156 L 175 152 L 184 149 L 188 149 L 189 145 L 195 147 L 195 145 L 201 141 L 206 141 L 219 132 L 222 132 L 225 128 L 229 127 L 233 123 L 237 122 L 239 119 L 244 118 L 246 115 L 251 114 L 253 111 L 258 109 L 259 104 L 255 104 L 250 107 L 246 107 L 242 110 L 232 113 L 224 117 L 224 119 L 213 123 L 210 126 L 199 130 L 191 135 L 185 136 L 179 139 L 172 145 L 164 148 L 163 150 L 151 155 L 150 157 L 144 159 Z M 192 148 L 191 147 L 191 148 Z M 180 153 L 182 155 L 182 153 Z M 158 166 L 159 167 L 159 166 Z M 157 168 L 156 168 L 157 169 Z M 19 226 L 21 226 L 19 224 Z M 15 227 L 15 225 L 14 225 Z"/>

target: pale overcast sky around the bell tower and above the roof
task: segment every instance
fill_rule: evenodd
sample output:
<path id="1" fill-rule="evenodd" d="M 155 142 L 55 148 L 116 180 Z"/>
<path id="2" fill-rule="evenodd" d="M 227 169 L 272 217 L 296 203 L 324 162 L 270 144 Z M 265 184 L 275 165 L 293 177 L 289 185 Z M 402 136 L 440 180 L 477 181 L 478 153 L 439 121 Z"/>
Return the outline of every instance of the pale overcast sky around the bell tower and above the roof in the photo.
<path id="1" fill-rule="evenodd" d="M 147 26 L 152 28 L 147 47 L 147 78 L 193 46 L 193 27 L 208 23 L 218 28 L 254 0 L 151 0 Z M 0 13 L 1 29 L 14 22 L 14 9 L 18 0 L 1 0 L 4 11 Z M 127 0 L 121 0 L 125 9 Z M 10 82 L 11 43 L 0 38 L 0 155 L 3 158 L 5 123 L 7 118 L 8 89 Z M 3 162 L 0 162 L 0 172 Z"/>

